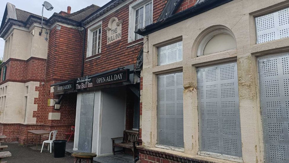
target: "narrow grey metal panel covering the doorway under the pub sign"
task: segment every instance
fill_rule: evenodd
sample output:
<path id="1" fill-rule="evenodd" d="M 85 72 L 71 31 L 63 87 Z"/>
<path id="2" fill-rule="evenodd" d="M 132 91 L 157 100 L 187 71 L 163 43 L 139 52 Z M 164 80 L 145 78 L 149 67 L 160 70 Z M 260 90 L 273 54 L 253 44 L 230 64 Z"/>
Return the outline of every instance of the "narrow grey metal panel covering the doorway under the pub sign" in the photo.
<path id="1" fill-rule="evenodd" d="M 94 94 L 81 95 L 78 150 L 91 152 Z"/>

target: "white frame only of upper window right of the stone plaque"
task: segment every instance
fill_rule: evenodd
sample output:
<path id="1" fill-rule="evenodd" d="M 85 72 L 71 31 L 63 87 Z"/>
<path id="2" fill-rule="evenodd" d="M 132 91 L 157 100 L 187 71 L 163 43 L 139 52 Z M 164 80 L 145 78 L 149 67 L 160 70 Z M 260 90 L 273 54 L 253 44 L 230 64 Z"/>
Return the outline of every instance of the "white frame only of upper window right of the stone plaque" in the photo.
<path id="1" fill-rule="evenodd" d="M 153 23 L 153 0 L 138 0 L 133 4 L 129 5 L 129 38 L 128 42 L 135 41 L 135 12 L 136 10 L 144 7 L 144 22 L 143 25 L 145 27 L 145 5 L 148 3 L 152 3 L 152 23 Z M 142 37 L 141 37 L 142 38 Z"/>

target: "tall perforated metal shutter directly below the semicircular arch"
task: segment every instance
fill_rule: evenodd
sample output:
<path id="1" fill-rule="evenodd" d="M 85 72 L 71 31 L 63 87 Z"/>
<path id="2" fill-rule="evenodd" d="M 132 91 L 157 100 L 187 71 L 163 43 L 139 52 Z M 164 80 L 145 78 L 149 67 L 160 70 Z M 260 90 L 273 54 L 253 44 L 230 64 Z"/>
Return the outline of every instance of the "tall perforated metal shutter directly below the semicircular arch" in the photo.
<path id="1" fill-rule="evenodd" d="M 200 151 L 242 157 L 237 63 L 198 68 Z"/>

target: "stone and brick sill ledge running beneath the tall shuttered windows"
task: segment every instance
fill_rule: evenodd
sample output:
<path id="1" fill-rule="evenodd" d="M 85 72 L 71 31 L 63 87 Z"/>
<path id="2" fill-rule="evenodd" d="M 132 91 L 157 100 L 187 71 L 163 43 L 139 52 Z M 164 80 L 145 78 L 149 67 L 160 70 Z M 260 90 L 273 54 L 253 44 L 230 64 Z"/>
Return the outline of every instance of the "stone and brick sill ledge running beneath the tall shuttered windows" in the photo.
<path id="1" fill-rule="evenodd" d="M 179 152 L 179 151 L 172 151 L 168 149 L 163 149 L 163 148 L 150 148 L 150 147 L 145 147 L 145 146 L 137 146 L 137 149 L 140 153 L 150 155 L 150 156 L 155 156 L 163 159 L 169 159 L 172 161 L 176 162 L 191 162 L 191 161 L 196 161 L 196 162 L 205 162 L 205 163 L 240 163 L 236 161 L 227 161 L 224 159 L 216 159 L 208 156 L 199 156 L 199 155 L 188 155 L 185 154 L 184 152 Z M 242 160 L 243 162 L 243 160 Z"/>

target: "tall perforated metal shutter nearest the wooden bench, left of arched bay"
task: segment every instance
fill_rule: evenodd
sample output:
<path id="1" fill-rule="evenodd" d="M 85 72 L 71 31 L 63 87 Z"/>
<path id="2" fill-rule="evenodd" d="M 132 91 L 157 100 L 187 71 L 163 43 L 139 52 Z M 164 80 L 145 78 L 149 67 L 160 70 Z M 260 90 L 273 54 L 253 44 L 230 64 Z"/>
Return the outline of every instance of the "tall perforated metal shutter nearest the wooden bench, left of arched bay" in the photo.
<path id="1" fill-rule="evenodd" d="M 184 147 L 183 72 L 158 76 L 157 144 Z"/>

